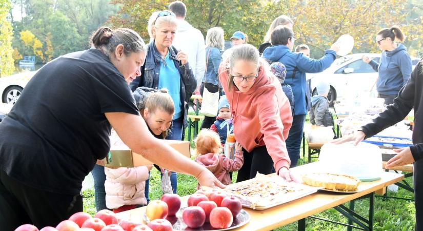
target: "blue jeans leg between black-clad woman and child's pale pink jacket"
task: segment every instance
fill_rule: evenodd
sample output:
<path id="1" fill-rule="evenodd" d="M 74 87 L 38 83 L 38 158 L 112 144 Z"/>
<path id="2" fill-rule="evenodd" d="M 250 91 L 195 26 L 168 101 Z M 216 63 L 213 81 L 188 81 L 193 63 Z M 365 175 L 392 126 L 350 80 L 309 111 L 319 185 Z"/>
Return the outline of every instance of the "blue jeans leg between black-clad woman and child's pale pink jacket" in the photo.
<path id="1" fill-rule="evenodd" d="M 104 182 L 106 181 L 104 167 L 96 164 L 92 169 L 91 174 L 94 178 L 95 208 L 97 211 L 108 209 L 106 206 L 106 189 L 104 188 Z"/>

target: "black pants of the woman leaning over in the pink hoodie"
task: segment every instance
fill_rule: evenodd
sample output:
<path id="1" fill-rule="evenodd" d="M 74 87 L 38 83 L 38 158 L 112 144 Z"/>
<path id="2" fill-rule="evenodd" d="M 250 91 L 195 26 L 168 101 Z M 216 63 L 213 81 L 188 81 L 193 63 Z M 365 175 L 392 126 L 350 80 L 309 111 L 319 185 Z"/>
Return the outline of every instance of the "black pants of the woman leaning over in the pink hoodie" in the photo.
<path id="1" fill-rule="evenodd" d="M 238 170 L 236 182 L 252 179 L 257 174 L 270 174 L 273 166 L 273 160 L 267 152 L 266 146 L 254 148 L 251 152 L 244 151 L 244 165 Z"/>

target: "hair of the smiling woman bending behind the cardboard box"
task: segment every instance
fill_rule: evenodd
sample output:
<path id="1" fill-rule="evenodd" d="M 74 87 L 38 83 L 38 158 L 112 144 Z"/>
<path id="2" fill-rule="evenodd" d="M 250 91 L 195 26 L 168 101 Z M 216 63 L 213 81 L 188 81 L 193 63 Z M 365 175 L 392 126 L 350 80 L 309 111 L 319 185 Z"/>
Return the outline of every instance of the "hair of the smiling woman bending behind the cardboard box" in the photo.
<path id="1" fill-rule="evenodd" d="M 146 108 L 150 113 L 155 113 L 157 110 L 163 110 L 173 116 L 173 113 L 175 112 L 175 106 L 173 104 L 172 97 L 166 88 L 162 88 L 157 92 L 152 92 L 145 100 L 144 105 L 142 105 L 142 103 L 138 104 L 138 109 L 141 114 L 144 114 L 144 110 Z M 166 138 L 168 133 L 169 129 L 163 131 L 161 135 L 163 138 Z"/>

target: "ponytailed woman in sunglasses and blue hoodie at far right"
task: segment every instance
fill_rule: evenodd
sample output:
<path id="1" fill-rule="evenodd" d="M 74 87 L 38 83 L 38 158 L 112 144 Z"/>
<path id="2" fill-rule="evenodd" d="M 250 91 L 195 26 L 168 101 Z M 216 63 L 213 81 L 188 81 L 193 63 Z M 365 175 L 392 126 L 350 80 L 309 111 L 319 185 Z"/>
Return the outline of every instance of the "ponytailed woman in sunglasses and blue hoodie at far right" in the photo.
<path id="1" fill-rule="evenodd" d="M 404 34 L 398 27 L 381 29 L 377 32 L 376 43 L 382 55 L 380 63 L 371 60 L 368 56 L 362 56 L 362 60 L 379 72 L 376 90 L 378 97 L 385 99 L 385 104 L 394 102 L 399 90 L 404 86 L 412 71 L 412 63 L 407 48 L 395 43 L 395 40 L 404 42 Z"/>

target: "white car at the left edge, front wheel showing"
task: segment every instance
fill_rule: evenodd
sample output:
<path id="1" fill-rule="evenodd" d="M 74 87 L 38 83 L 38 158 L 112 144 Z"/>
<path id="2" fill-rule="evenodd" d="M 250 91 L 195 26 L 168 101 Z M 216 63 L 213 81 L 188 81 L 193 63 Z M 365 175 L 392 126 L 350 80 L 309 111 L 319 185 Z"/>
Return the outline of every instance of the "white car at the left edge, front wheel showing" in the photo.
<path id="1" fill-rule="evenodd" d="M 0 95 L 3 103 L 15 104 L 24 87 L 36 71 L 22 72 L 0 78 Z"/>

